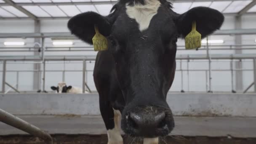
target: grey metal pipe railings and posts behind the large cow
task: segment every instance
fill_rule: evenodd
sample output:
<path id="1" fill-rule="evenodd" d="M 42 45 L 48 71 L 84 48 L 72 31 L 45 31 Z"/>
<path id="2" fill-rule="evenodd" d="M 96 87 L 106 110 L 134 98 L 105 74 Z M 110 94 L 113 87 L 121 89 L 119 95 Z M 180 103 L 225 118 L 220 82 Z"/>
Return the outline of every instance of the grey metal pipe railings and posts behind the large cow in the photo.
<path id="1" fill-rule="evenodd" d="M 251 30 L 222 30 L 215 33 L 215 35 L 243 35 L 243 34 L 255 34 L 254 31 Z M 9 85 L 6 83 L 6 64 L 7 61 L 39 61 L 43 63 L 43 70 L 33 70 L 28 72 L 39 72 L 43 75 L 43 91 L 45 91 L 45 72 L 50 72 L 45 69 L 45 65 L 47 64 L 46 61 L 82 61 L 83 62 L 83 69 L 82 69 L 82 78 L 83 78 L 83 92 L 86 90 L 86 77 L 87 72 L 86 70 L 86 61 L 95 61 L 96 56 L 45 56 L 45 52 L 50 51 L 93 51 L 92 47 L 46 47 L 45 46 L 45 38 L 47 37 L 72 37 L 72 35 L 67 33 L 44 33 L 44 34 L 0 34 L 0 37 L 33 37 L 33 38 L 40 38 L 41 43 L 36 43 L 34 47 L 27 47 L 27 48 L 0 48 L 0 52 L 39 52 L 39 55 L 30 55 L 30 56 L 0 56 L 0 61 L 3 61 L 3 80 L 2 80 L 2 92 L 5 93 L 5 85 Z M 208 38 L 207 38 L 208 40 Z M 178 46 L 178 51 L 184 51 L 184 46 Z M 203 48 L 198 49 L 198 51 L 206 51 L 206 54 L 181 54 L 176 56 L 176 60 L 178 61 L 191 61 L 191 60 L 206 60 L 208 61 L 208 69 L 177 69 L 177 71 L 181 72 L 181 91 L 183 90 L 183 75 L 184 72 L 191 71 L 203 71 L 205 72 L 205 85 L 206 91 L 212 92 L 212 72 L 213 71 L 230 71 L 232 75 L 231 85 L 232 91 L 234 91 L 234 80 L 233 80 L 233 72 L 239 71 L 253 71 L 253 83 L 256 83 L 256 56 L 255 54 L 248 53 L 248 54 L 211 54 L 211 51 L 223 51 L 223 50 L 256 50 L 256 45 L 203 45 Z M 230 61 L 242 61 L 245 59 L 250 59 L 253 61 L 253 69 L 234 69 L 233 62 L 230 62 L 230 69 L 212 69 L 212 62 L 213 60 L 227 60 Z M 182 63 L 180 62 L 182 65 Z M 68 71 L 61 71 L 63 75 L 65 72 Z M 17 77 L 19 77 L 19 72 L 17 71 Z M 253 85 L 253 84 L 252 84 Z M 252 86 L 250 85 L 250 86 Z M 13 90 L 19 91 L 19 85 L 12 86 Z M 16 91 L 15 90 L 15 91 Z M 256 92 L 256 85 L 254 85 L 254 91 Z"/>

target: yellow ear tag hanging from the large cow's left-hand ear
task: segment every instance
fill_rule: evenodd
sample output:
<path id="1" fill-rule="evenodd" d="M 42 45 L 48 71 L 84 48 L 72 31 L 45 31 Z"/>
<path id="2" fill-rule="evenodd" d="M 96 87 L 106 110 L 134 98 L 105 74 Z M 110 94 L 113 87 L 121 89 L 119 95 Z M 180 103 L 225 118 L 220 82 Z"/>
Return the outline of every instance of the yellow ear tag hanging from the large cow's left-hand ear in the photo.
<path id="1" fill-rule="evenodd" d="M 94 26 L 95 35 L 93 37 L 94 51 L 106 51 L 107 50 L 107 38 L 99 33 L 98 27 Z"/>

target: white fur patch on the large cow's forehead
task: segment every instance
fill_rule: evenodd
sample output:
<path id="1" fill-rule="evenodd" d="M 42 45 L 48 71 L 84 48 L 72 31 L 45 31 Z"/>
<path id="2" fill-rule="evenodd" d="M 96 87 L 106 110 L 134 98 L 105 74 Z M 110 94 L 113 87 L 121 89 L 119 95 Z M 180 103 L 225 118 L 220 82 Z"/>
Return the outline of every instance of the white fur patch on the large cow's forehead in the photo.
<path id="1" fill-rule="evenodd" d="M 126 13 L 131 19 L 139 24 L 139 30 L 143 31 L 149 27 L 150 21 L 157 14 L 161 3 L 159 0 L 145 0 L 145 5 L 126 5 Z"/>

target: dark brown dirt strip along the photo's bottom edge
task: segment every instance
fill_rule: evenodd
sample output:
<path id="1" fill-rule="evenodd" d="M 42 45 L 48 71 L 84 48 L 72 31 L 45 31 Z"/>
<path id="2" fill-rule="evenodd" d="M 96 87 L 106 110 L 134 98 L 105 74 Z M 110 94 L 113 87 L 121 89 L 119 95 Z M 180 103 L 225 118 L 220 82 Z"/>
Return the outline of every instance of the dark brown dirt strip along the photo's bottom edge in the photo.
<path id="1" fill-rule="evenodd" d="M 107 135 L 53 135 L 54 144 L 107 144 Z M 124 144 L 141 144 L 141 139 L 124 136 Z M 160 144 L 256 144 L 256 138 L 168 136 Z M 0 144 L 46 144 L 28 135 L 0 136 Z"/>

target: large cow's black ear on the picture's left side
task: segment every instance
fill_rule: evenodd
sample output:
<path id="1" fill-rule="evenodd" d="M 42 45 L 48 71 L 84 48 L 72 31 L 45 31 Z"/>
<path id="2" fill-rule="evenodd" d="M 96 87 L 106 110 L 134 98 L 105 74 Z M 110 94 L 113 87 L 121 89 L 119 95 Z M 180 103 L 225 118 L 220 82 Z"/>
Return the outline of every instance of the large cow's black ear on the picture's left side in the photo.
<path id="1" fill-rule="evenodd" d="M 95 12 L 80 13 L 72 17 L 67 24 L 72 34 L 89 44 L 93 44 L 94 25 L 99 28 L 99 32 L 105 37 L 110 34 L 112 25 L 108 18 Z"/>

